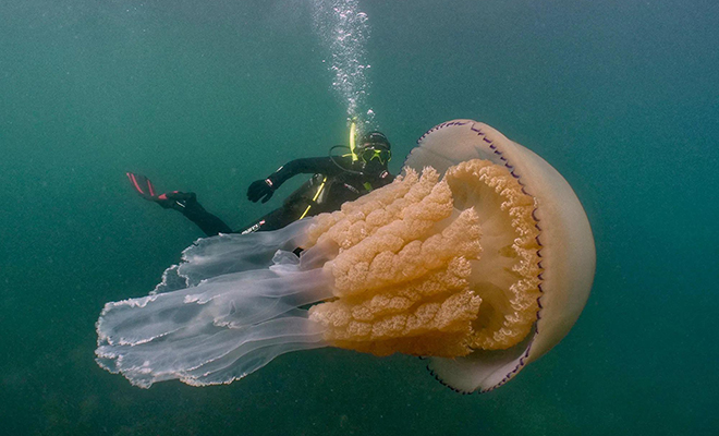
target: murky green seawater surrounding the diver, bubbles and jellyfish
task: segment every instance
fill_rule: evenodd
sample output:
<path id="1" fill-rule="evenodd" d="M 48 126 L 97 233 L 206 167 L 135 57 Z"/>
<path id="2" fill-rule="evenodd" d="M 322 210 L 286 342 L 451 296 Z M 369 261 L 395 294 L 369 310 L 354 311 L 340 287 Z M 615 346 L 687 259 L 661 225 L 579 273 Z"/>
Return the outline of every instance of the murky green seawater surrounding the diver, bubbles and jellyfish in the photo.
<path id="1" fill-rule="evenodd" d="M 598 265 L 570 335 L 486 395 L 334 349 L 209 388 L 102 371 L 102 305 L 146 294 L 202 237 L 124 172 L 239 227 L 281 204 L 247 202 L 252 181 L 345 142 L 346 105 L 313 1 L 3 1 L 0 434 L 719 434 L 719 3 L 358 4 L 392 171 L 471 118 L 576 191 Z"/>

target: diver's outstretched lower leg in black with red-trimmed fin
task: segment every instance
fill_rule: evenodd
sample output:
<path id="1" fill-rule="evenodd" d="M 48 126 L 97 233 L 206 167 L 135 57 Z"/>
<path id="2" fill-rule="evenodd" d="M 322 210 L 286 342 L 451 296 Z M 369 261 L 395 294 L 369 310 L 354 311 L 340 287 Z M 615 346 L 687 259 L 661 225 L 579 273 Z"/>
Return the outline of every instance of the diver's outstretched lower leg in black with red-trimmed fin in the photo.
<path id="1" fill-rule="evenodd" d="M 220 218 L 205 210 L 197 202 L 194 192 L 172 191 L 164 194 L 156 194 L 153 182 L 145 175 L 127 172 L 127 178 L 135 191 L 145 199 L 159 204 L 164 209 L 179 210 L 193 221 L 208 237 L 218 233 L 231 233 L 232 229 Z"/>

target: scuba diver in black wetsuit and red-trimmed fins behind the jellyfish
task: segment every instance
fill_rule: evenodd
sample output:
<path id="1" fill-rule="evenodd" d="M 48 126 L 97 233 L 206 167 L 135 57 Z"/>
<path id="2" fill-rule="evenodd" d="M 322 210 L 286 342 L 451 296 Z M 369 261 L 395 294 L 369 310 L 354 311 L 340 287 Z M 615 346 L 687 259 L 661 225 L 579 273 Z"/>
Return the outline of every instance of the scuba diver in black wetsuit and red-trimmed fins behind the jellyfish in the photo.
<path id="1" fill-rule="evenodd" d="M 282 183 L 296 174 L 313 174 L 302 186 L 288 196 L 282 206 L 258 220 L 233 231 L 224 221 L 205 210 L 192 192 L 172 191 L 156 194 L 155 186 L 144 175 L 127 173 L 127 178 L 139 195 L 166 209 L 181 211 L 208 237 L 218 233 L 251 233 L 281 229 L 298 219 L 325 211 L 339 210 L 344 202 L 357 199 L 371 190 L 385 186 L 394 180 L 387 170 L 392 152 L 387 136 L 381 132 L 369 132 L 355 146 L 355 124 L 350 133 L 350 147 L 337 145 L 329 156 L 295 159 L 280 167 L 265 179 L 254 181 L 247 189 L 247 198 L 267 203 Z M 349 148 L 349 154 L 334 155 L 339 148 Z"/>

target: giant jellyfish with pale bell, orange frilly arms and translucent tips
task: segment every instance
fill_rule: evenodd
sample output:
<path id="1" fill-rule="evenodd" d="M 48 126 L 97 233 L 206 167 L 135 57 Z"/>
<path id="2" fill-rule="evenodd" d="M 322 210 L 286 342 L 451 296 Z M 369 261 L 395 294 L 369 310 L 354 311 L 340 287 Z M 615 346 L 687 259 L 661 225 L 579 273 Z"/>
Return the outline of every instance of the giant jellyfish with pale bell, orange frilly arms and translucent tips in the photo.
<path id="1" fill-rule="evenodd" d="M 338 211 L 198 240 L 149 295 L 105 305 L 97 362 L 143 388 L 206 386 L 337 347 L 427 358 L 454 390 L 488 391 L 569 332 L 594 269 L 586 214 L 557 170 L 453 120 L 393 183 Z"/>

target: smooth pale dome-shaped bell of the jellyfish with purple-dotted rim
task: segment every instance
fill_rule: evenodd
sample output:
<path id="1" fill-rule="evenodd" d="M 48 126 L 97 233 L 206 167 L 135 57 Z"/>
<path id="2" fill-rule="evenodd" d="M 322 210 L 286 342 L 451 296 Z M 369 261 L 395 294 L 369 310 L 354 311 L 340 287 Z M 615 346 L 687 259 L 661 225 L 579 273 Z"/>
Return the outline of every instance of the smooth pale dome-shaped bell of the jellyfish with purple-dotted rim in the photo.
<path id="1" fill-rule="evenodd" d="M 419 138 L 405 166 L 431 165 L 443 172 L 471 159 L 507 168 L 535 198 L 539 245 L 540 296 L 532 334 L 505 350 L 477 349 L 452 360 L 430 359 L 429 368 L 450 387 L 486 391 L 507 383 L 569 332 L 589 296 L 596 254 L 589 221 L 566 180 L 541 157 L 487 124 L 473 120 L 438 124 Z M 455 201 L 455 206 L 466 204 Z"/>

